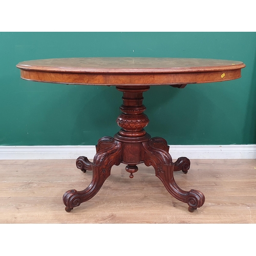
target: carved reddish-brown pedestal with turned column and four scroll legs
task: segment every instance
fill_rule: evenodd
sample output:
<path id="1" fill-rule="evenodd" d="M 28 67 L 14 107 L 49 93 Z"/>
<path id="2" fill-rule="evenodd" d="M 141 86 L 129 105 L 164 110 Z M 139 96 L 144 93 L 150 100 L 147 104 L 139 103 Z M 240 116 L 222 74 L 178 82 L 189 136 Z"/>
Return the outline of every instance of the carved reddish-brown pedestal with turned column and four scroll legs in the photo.
<path id="1" fill-rule="evenodd" d="M 167 191 L 176 199 L 187 203 L 190 212 L 204 204 L 205 198 L 200 191 L 184 191 L 174 180 L 175 171 L 182 170 L 187 173 L 190 161 L 186 157 L 180 157 L 173 163 L 166 140 L 151 138 L 144 130 L 150 120 L 143 113 L 146 110 L 142 104 L 143 92 L 149 89 L 150 86 L 117 86 L 117 90 L 123 92 L 123 104 L 120 106 L 122 113 L 116 120 L 121 130 L 114 138 L 103 137 L 98 141 L 93 162 L 86 157 L 76 160 L 76 166 L 82 172 L 93 171 L 93 178 L 86 189 L 73 189 L 65 193 L 63 202 L 67 206 L 66 211 L 70 212 L 74 207 L 94 197 L 110 176 L 111 167 L 120 163 L 127 164 L 125 170 L 130 173 L 130 178 L 137 172 L 137 164 L 152 165 Z"/>

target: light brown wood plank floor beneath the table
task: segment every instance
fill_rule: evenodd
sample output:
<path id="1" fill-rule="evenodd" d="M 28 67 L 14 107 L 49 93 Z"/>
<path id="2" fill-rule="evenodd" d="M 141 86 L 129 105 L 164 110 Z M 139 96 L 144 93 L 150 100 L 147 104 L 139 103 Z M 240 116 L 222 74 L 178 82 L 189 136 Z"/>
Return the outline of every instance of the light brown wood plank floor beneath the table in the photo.
<path id="1" fill-rule="evenodd" d="M 256 160 L 191 160 L 187 174 L 175 173 L 184 190 L 198 189 L 205 204 L 190 213 L 155 176 L 138 165 L 129 178 L 125 165 L 113 166 L 98 194 L 65 211 L 62 195 L 82 190 L 92 172 L 75 160 L 1 160 L 0 223 L 256 223 Z"/>

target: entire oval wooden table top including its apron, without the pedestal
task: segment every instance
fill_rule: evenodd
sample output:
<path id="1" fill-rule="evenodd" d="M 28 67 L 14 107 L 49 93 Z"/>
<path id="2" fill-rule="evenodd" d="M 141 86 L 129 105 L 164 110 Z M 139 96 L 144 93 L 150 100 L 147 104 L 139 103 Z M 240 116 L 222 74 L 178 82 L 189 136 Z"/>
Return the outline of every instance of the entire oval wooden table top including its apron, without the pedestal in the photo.
<path id="1" fill-rule="evenodd" d="M 18 63 L 26 80 L 97 85 L 217 82 L 241 77 L 241 61 L 195 58 L 94 57 Z"/>

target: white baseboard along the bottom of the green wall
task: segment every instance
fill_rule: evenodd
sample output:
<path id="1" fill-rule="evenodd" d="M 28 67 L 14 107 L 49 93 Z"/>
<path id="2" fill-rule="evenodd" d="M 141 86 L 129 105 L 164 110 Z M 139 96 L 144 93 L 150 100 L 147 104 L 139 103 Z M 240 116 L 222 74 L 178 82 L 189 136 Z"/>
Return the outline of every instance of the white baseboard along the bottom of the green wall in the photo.
<path id="1" fill-rule="evenodd" d="M 170 145 L 173 159 L 256 159 L 256 144 L 250 145 Z M 95 146 L 0 146 L 0 160 L 93 159 Z"/>

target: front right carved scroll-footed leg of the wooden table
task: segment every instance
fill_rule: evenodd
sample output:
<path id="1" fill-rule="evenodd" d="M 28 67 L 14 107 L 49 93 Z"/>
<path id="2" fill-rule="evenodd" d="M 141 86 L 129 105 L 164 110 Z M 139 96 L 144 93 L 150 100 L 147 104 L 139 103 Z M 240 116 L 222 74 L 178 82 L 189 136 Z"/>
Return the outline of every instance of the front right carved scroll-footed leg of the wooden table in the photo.
<path id="1" fill-rule="evenodd" d="M 142 143 L 143 161 L 146 166 L 152 165 L 155 168 L 156 176 L 163 182 L 167 191 L 179 201 L 187 203 L 188 210 L 193 212 L 204 204 L 205 197 L 198 190 L 184 191 L 176 184 L 173 175 L 175 163 L 159 141 L 159 138 L 152 138 Z"/>

